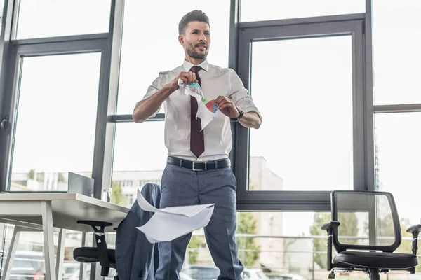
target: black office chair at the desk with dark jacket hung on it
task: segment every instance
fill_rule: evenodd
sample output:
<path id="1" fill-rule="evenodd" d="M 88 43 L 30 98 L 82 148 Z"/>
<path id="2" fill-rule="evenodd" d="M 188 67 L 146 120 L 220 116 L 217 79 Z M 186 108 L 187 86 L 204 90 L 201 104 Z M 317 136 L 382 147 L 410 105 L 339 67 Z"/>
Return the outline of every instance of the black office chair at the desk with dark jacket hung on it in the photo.
<path id="1" fill-rule="evenodd" d="M 77 223 L 91 225 L 95 235 L 96 247 L 79 247 L 73 251 L 73 258 L 77 262 L 100 262 L 101 276 L 108 276 L 109 269 L 116 269 L 116 251 L 114 249 L 107 249 L 105 241 L 105 227 L 112 225 L 112 223 L 100 221 L 77 221 Z M 114 276 L 114 280 L 118 280 L 119 276 Z"/>

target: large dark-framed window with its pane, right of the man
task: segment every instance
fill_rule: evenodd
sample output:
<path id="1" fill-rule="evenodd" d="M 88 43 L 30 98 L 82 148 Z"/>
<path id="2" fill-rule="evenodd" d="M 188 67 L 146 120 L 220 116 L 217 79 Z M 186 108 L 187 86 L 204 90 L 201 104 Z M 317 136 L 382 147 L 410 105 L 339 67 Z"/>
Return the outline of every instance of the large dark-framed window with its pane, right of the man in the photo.
<path id="1" fill-rule="evenodd" d="M 330 190 L 365 189 L 363 18 L 313 20 L 239 32 L 239 76 L 263 119 L 236 125 L 241 210 L 323 210 Z"/>

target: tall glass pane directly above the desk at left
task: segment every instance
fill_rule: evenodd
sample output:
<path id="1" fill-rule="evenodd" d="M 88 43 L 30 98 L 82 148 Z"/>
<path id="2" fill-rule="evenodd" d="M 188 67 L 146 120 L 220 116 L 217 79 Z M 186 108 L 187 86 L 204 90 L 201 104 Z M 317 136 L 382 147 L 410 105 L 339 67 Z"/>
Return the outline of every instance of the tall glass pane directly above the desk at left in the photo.
<path id="1" fill-rule="evenodd" d="M 92 172 L 100 62 L 100 53 L 22 59 L 11 190 L 67 190 L 67 172 Z"/>

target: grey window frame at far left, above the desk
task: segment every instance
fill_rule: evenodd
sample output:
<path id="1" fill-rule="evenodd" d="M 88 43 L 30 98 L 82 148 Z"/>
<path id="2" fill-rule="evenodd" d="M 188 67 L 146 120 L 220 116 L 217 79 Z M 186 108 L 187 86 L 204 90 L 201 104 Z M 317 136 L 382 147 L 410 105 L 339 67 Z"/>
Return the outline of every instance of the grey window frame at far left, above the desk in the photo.
<path id="1" fill-rule="evenodd" d="M 116 112 L 123 0 L 111 2 L 108 33 L 14 40 L 18 6 L 19 0 L 5 1 L 4 35 L 0 37 L 3 47 L 1 73 L 4 73 L 0 80 L 0 116 L 8 115 L 9 118 L 7 129 L 0 130 L 0 150 L 5 151 L 0 160 L 0 190 L 7 191 L 10 186 L 20 57 L 101 52 L 92 169 L 93 195 L 101 199 L 102 192 L 108 191 L 111 186 L 115 125 L 107 120 Z"/>

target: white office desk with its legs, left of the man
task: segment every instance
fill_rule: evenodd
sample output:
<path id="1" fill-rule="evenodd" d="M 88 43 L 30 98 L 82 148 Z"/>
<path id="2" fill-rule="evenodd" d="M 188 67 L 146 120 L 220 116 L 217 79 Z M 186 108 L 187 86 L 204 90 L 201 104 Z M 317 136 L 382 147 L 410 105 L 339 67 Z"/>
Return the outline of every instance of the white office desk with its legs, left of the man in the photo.
<path id="1" fill-rule="evenodd" d="M 76 221 L 93 220 L 113 223 L 112 227 L 105 228 L 106 231 L 112 232 L 113 228 L 117 227 L 123 218 L 126 218 L 129 210 L 126 207 L 78 193 L 0 194 L 0 223 L 16 225 L 16 230 L 22 230 L 22 228 L 42 230 L 46 279 L 51 280 L 61 278 L 60 262 L 62 263 L 64 250 L 60 247 L 64 244 L 64 230 L 91 232 L 90 226 L 79 225 Z M 57 229 L 62 230 L 60 230 L 59 236 L 58 261 L 55 265 L 53 232 Z M 18 241 L 15 238 L 15 232 L 11 246 L 13 242 L 17 244 Z M 14 255 L 13 253 L 13 249 L 9 250 L 8 260 L 13 259 L 10 258 Z M 6 267 L 7 269 L 8 267 Z"/>

